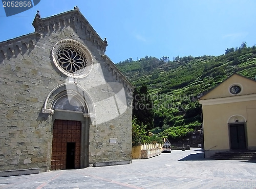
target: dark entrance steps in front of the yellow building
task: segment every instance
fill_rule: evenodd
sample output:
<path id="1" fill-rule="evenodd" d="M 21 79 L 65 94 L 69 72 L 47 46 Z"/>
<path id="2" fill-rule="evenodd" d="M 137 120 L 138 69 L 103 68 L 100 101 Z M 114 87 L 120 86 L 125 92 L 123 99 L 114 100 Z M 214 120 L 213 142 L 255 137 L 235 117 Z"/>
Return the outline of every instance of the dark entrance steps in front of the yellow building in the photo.
<path id="1" fill-rule="evenodd" d="M 216 160 L 256 160 L 256 151 L 217 152 L 211 158 Z"/>

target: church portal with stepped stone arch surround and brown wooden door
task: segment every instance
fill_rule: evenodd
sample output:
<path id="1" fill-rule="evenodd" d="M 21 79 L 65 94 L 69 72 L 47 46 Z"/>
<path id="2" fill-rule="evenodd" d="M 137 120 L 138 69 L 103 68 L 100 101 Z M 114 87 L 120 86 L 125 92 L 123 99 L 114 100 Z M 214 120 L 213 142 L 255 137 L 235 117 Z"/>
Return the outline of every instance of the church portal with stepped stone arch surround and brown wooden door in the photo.
<path id="1" fill-rule="evenodd" d="M 49 93 L 42 112 L 52 114 L 48 170 L 88 167 L 89 132 L 95 117 L 89 94 L 74 83 L 59 85 Z"/>

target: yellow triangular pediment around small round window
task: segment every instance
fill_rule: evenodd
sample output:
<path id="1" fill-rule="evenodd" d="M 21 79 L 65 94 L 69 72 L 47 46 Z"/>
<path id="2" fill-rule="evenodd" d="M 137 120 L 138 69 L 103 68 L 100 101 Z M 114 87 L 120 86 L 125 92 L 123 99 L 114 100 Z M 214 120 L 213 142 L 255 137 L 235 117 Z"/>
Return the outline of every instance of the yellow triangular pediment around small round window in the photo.
<path id="1" fill-rule="evenodd" d="M 239 93 L 236 96 L 249 95 L 249 94 L 256 93 L 255 80 L 244 77 L 240 74 L 234 73 L 231 76 L 229 76 L 227 79 L 222 81 L 220 84 L 218 84 L 216 87 L 208 91 L 205 95 L 200 97 L 200 100 L 233 97 L 234 95 L 232 95 L 229 92 L 229 89 L 232 85 L 240 85 L 243 89 L 241 93 Z"/>

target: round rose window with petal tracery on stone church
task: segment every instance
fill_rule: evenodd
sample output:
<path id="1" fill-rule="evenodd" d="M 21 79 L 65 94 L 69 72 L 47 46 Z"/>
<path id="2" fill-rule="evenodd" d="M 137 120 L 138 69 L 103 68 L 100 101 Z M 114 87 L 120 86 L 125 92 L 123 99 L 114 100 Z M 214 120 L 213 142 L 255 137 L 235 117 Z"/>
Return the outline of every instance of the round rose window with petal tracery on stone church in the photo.
<path id="1" fill-rule="evenodd" d="M 72 78 L 83 78 L 92 70 L 92 56 L 86 46 L 72 40 L 61 40 L 52 50 L 54 64 L 63 74 Z"/>

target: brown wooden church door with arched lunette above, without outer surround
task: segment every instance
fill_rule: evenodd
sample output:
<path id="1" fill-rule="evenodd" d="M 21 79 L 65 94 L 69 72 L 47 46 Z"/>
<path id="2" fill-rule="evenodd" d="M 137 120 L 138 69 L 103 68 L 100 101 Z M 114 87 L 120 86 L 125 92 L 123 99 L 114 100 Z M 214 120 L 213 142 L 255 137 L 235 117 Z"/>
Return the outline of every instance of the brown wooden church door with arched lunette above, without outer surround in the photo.
<path id="1" fill-rule="evenodd" d="M 82 116 L 88 112 L 87 107 L 73 93 L 63 91 L 53 101 L 53 110 L 51 170 L 79 169 L 83 167 L 80 157 L 84 151 L 81 132 L 83 136 L 89 135 L 82 129 L 82 123 L 83 128 L 87 127 L 86 118 Z"/>

